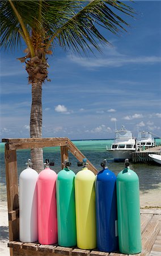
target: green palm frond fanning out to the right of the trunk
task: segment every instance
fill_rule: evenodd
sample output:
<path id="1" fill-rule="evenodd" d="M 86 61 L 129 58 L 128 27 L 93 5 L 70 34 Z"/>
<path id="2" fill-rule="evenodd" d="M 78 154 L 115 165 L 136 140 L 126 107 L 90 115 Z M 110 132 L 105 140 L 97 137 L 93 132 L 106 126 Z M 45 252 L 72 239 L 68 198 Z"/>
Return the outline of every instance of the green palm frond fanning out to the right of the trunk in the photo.
<path id="1" fill-rule="evenodd" d="M 55 2 L 60 3 L 60 1 Z M 70 1 L 70 4 L 72 2 L 75 4 L 77 1 Z M 81 5 L 80 1 L 79 5 L 77 2 L 72 12 L 66 8 L 67 15 L 62 16 L 58 22 L 50 27 L 52 37 L 49 40 L 48 47 L 53 41 L 56 41 L 63 48 L 70 48 L 77 52 L 80 48 L 85 53 L 88 49 L 92 51 L 92 47 L 100 50 L 100 43 L 109 43 L 108 39 L 100 33 L 100 27 L 117 35 L 121 31 L 126 31 L 125 27 L 128 26 L 128 23 L 114 10 L 116 9 L 119 14 L 134 15 L 132 7 L 120 1 L 93 0 L 88 2 L 86 6 L 84 6 L 84 3 L 87 2 L 81 1 Z M 48 16 L 46 16 L 46 20 L 48 20 Z M 75 42 L 78 43 L 79 47 L 75 47 Z"/>

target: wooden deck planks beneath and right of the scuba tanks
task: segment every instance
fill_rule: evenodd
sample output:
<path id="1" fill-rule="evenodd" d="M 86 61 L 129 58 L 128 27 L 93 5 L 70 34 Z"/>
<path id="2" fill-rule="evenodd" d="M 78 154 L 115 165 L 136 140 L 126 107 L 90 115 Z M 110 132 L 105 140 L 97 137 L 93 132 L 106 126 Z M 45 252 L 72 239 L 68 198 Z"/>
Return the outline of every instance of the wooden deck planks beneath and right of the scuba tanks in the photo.
<path id="1" fill-rule="evenodd" d="M 139 256 L 161 256 L 161 209 L 141 209 L 142 252 Z M 8 246 L 20 255 L 71 255 L 71 256 L 125 256 L 120 253 L 103 253 L 97 250 L 81 250 L 58 245 L 40 245 L 39 243 L 23 243 L 12 241 Z M 127 254 L 126 254 L 127 255 Z"/>

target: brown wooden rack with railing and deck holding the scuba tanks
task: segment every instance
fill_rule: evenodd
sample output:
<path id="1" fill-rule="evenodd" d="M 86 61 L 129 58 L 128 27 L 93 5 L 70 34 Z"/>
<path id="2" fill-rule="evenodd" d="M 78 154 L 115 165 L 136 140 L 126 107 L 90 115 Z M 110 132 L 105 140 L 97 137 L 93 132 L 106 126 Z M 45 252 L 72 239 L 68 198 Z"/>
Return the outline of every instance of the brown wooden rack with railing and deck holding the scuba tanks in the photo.
<path id="1" fill-rule="evenodd" d="M 16 150 L 36 147 L 61 148 L 61 162 L 70 151 L 75 158 L 82 162 L 85 156 L 68 138 L 31 138 L 31 139 L 2 139 L 5 144 L 7 202 L 9 211 L 9 239 L 11 256 L 122 256 L 125 254 L 104 253 L 103 251 L 81 250 L 77 247 L 61 247 L 58 245 L 40 245 L 37 243 L 23 243 L 19 241 L 19 196 L 18 171 Z M 88 161 L 88 168 L 97 174 L 96 168 Z M 161 253 L 161 210 L 141 210 L 142 253 L 145 255 L 160 255 Z M 132 256 L 132 255 L 130 255 Z"/>

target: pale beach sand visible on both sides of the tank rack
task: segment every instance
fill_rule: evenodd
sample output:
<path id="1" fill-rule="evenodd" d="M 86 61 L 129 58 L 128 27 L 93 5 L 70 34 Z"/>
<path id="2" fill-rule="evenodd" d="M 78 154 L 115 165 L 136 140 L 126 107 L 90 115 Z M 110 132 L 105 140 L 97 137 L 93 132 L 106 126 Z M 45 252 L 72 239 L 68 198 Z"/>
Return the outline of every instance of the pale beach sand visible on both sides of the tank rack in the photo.
<path id="1" fill-rule="evenodd" d="M 140 192 L 140 205 L 141 208 L 161 208 L 161 184 L 159 189 L 151 189 L 149 191 Z M 9 222 L 6 201 L 1 201 L 0 214 L 0 255 L 9 256 L 10 250 L 7 247 L 7 242 L 9 241 Z"/>

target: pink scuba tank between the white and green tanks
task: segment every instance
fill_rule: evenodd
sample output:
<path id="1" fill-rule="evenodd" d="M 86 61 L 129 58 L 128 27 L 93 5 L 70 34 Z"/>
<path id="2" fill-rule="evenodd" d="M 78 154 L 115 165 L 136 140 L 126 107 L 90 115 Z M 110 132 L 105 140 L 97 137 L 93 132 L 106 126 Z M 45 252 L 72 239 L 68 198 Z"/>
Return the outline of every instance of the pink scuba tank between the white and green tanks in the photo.
<path id="1" fill-rule="evenodd" d="M 37 180 L 38 240 L 43 245 L 57 243 L 56 179 L 46 159 L 45 170 Z"/>

